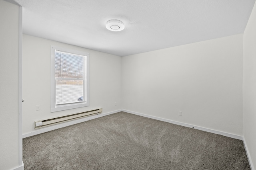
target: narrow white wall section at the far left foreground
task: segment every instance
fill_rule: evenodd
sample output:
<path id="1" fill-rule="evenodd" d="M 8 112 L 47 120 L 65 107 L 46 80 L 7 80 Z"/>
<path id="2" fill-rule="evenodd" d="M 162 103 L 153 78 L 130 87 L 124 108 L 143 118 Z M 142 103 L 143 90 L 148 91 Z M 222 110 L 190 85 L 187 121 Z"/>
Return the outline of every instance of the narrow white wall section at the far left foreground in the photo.
<path id="1" fill-rule="evenodd" d="M 19 166 L 19 6 L 0 0 L 0 169 Z"/>

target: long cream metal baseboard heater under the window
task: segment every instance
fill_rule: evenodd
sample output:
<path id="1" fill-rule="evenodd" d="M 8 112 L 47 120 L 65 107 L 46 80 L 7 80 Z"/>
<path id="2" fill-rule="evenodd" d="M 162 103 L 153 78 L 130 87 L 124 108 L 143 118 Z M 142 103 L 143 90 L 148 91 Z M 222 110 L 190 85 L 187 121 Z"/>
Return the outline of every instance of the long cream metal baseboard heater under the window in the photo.
<path id="1" fill-rule="evenodd" d="M 72 115 L 66 115 L 66 116 L 61 116 L 61 117 L 54 117 L 52 119 L 45 119 L 45 120 L 40 120 L 40 121 L 35 121 L 35 129 L 50 126 L 50 125 L 55 125 L 58 123 L 63 123 L 66 121 L 74 120 L 74 119 L 80 119 L 82 117 L 87 117 L 91 115 L 96 115 L 102 113 L 102 108 L 101 109 L 95 109 L 95 110 L 90 110 L 90 111 L 85 111 L 81 113 L 75 113 Z"/>

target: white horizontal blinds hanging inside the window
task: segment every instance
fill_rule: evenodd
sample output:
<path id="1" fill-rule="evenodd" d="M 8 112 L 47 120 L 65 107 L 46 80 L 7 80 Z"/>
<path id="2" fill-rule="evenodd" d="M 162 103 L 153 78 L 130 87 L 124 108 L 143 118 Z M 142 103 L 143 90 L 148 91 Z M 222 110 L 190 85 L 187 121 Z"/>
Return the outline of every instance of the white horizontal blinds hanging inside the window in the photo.
<path id="1" fill-rule="evenodd" d="M 86 56 L 55 50 L 54 67 L 55 104 L 86 102 Z"/>

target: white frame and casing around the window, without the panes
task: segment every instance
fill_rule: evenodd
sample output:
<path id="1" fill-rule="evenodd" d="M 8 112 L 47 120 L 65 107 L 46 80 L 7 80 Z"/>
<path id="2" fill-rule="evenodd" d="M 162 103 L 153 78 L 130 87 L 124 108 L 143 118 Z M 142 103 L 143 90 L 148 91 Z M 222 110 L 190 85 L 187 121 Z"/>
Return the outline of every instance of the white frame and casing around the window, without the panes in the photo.
<path id="1" fill-rule="evenodd" d="M 51 112 L 62 111 L 67 109 L 75 109 L 78 107 L 86 107 L 89 106 L 89 53 L 82 51 L 74 51 L 70 49 L 64 49 L 60 47 L 53 47 L 51 49 Z M 84 55 L 86 56 L 86 77 L 84 83 L 84 101 L 85 102 L 77 102 L 73 104 L 62 104 L 56 105 L 56 84 L 55 84 L 55 50 L 72 53 L 76 55 Z"/>

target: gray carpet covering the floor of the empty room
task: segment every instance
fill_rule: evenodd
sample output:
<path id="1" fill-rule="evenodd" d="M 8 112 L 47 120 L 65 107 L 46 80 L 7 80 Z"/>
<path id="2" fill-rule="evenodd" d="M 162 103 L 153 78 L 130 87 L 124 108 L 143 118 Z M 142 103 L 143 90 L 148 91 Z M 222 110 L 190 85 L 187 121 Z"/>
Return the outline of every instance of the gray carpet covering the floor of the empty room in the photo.
<path id="1" fill-rule="evenodd" d="M 23 139 L 25 170 L 250 170 L 243 142 L 119 112 Z"/>

